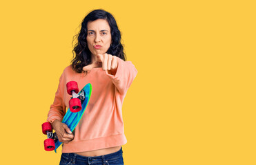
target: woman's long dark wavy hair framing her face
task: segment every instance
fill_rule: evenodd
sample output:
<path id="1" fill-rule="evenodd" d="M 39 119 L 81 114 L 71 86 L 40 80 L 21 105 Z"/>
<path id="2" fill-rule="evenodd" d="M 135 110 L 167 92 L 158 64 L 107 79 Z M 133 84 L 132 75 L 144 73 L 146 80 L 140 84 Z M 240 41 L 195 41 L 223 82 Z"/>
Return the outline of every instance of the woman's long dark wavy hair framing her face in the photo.
<path id="1" fill-rule="evenodd" d="M 117 27 L 117 22 L 115 18 L 109 12 L 105 10 L 92 10 L 87 16 L 83 19 L 81 23 L 80 32 L 73 37 L 73 41 L 77 38 L 77 43 L 75 44 L 73 53 L 72 69 L 77 73 L 82 73 L 83 67 L 92 63 L 91 52 L 88 48 L 86 37 L 87 37 L 87 24 L 89 21 L 95 21 L 97 19 L 106 19 L 108 25 L 110 26 L 112 44 L 110 45 L 107 54 L 112 56 L 117 56 L 122 60 L 126 61 L 126 54 L 124 53 L 124 46 L 121 44 L 121 32 Z M 78 37 L 77 37 L 78 36 Z M 73 43 L 72 41 L 72 43 Z M 75 53 L 74 53 L 75 52 Z M 87 72 L 86 72 L 87 73 Z"/>

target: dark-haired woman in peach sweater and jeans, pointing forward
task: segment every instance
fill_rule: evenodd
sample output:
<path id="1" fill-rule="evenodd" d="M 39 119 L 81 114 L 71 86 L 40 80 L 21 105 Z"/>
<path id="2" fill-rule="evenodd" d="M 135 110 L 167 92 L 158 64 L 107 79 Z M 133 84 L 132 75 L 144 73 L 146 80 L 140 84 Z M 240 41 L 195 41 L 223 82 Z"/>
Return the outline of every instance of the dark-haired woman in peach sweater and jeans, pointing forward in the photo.
<path id="1" fill-rule="evenodd" d="M 137 69 L 126 61 L 121 33 L 109 12 L 90 12 L 77 39 L 75 58 L 61 74 L 47 119 L 63 142 L 60 164 L 124 164 L 121 145 L 127 140 L 121 106 Z M 70 100 L 66 83 L 71 80 L 79 89 L 92 85 L 90 102 L 73 133 L 61 122 Z"/>

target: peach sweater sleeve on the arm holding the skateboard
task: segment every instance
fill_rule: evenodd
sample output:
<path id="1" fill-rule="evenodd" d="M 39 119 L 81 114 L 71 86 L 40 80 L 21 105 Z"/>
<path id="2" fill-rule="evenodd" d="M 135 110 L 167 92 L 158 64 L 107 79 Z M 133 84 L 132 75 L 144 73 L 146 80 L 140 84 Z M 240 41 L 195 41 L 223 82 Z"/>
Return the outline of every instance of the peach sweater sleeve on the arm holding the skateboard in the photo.
<path id="1" fill-rule="evenodd" d="M 64 84 L 64 72 L 59 78 L 59 86 L 55 93 L 55 100 L 50 105 L 50 111 L 48 112 L 47 122 L 54 122 L 56 119 L 61 121 L 66 113 L 66 105 L 63 102 L 63 84 Z"/>

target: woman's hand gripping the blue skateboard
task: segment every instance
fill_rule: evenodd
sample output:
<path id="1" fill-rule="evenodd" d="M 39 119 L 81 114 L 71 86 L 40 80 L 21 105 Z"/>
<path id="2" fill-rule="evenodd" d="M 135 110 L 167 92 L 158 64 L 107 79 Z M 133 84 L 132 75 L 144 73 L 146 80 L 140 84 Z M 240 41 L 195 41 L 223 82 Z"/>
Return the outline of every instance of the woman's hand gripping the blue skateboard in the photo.
<path id="1" fill-rule="evenodd" d="M 74 134 L 70 131 L 68 126 L 59 120 L 52 122 L 52 128 L 55 129 L 59 142 L 68 143 L 74 139 Z"/>

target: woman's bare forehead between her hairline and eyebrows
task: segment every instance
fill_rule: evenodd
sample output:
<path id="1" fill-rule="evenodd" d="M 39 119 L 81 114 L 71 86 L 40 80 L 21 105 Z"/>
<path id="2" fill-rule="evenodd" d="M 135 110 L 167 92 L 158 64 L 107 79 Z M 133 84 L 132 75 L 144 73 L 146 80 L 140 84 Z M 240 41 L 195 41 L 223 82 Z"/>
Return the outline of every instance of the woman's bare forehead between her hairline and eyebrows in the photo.
<path id="1" fill-rule="evenodd" d="M 108 30 L 110 31 L 110 26 L 106 19 L 97 19 L 95 21 L 89 21 L 87 24 L 88 30 Z"/>

